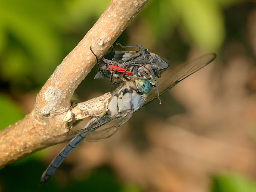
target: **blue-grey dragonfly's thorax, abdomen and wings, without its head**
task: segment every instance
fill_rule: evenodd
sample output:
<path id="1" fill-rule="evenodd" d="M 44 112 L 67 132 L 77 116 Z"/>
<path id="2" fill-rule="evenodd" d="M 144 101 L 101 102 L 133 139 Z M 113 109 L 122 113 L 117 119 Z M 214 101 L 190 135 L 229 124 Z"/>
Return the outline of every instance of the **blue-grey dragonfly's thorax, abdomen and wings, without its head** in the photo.
<path id="1" fill-rule="evenodd" d="M 162 95 L 186 77 L 200 70 L 215 58 L 215 53 L 209 53 L 184 64 L 172 72 L 169 78 L 159 85 L 159 95 Z M 92 117 L 81 130 L 60 134 L 46 140 L 44 142 L 45 144 L 56 144 L 72 139 L 69 144 L 60 151 L 57 157 L 52 160 L 52 163 L 48 166 L 41 177 L 40 185 L 42 186 L 53 175 L 63 160 L 82 140 L 86 139 L 88 141 L 97 141 L 111 137 L 131 118 L 133 113 L 156 98 L 156 92 L 151 91 L 148 94 L 141 93 L 134 81 L 127 81 L 113 93 L 108 104 L 108 112 L 104 116 Z M 111 122 L 113 119 L 117 119 L 113 126 L 97 130 L 99 127 Z"/>

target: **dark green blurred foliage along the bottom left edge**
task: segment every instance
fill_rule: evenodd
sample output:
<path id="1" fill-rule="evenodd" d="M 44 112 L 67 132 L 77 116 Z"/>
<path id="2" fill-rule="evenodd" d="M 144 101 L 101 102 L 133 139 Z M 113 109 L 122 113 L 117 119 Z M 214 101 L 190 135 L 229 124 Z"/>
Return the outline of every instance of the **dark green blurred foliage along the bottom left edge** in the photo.
<path id="1" fill-rule="evenodd" d="M 39 187 L 39 179 L 45 166 L 35 159 L 23 161 L 22 164 L 14 163 L 6 169 L 0 170 L 0 191 L 2 192 L 140 192 L 136 188 L 119 186 L 113 173 L 107 167 L 99 168 L 90 176 L 81 178 L 81 180 L 63 181 L 67 178 L 61 178 L 56 181 L 54 178 L 49 180 L 44 186 Z M 23 175 L 23 177 L 21 177 Z M 26 175 L 26 176 L 25 176 Z M 13 184 L 15 182 L 15 185 Z M 129 190 L 128 190 L 129 189 Z"/>

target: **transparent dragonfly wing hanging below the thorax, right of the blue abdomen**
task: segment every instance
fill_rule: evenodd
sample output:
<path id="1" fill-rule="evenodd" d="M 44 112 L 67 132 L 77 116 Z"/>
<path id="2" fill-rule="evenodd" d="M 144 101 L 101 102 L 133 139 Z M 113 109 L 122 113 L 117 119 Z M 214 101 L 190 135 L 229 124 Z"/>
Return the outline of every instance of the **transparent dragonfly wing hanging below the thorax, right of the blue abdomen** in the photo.
<path id="1" fill-rule="evenodd" d="M 85 137 L 87 141 L 97 141 L 97 140 L 102 140 L 108 137 L 111 137 L 113 134 L 116 133 L 116 131 L 119 130 L 119 128 L 124 125 L 132 116 L 132 112 L 125 115 L 125 116 L 121 116 L 118 121 L 115 123 L 115 125 L 113 125 L 112 127 L 109 128 L 105 128 L 102 130 L 96 130 L 93 132 L 90 132 L 89 134 L 87 134 L 87 136 Z"/>

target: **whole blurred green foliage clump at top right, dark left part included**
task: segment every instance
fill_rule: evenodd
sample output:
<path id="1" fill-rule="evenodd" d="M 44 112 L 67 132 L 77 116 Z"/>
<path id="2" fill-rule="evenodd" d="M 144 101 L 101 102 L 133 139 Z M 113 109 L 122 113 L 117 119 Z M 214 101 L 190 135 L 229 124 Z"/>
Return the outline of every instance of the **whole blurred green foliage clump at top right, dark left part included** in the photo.
<path id="1" fill-rule="evenodd" d="M 186 40 L 201 48 L 218 49 L 224 39 L 224 20 L 216 1 L 157 0 L 149 1 L 141 17 L 158 38 L 172 36 L 179 30 Z M 152 23 L 152 24 L 151 24 Z"/>

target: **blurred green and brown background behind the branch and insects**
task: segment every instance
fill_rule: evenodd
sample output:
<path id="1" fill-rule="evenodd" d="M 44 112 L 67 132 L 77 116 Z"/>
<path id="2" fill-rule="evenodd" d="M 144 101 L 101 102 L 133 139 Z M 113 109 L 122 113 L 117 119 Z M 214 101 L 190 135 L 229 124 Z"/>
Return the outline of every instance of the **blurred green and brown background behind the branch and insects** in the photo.
<path id="1" fill-rule="evenodd" d="M 34 108 L 36 94 L 108 3 L 0 2 L 0 129 Z M 255 192 L 255 5 L 149 0 L 117 42 L 141 44 L 173 66 L 216 52 L 215 64 L 163 95 L 164 105 L 141 109 L 113 138 L 83 142 L 41 188 L 41 174 L 64 145 L 6 166 L 0 192 Z M 94 80 L 96 73 L 94 67 L 74 99 L 115 89 Z"/>

